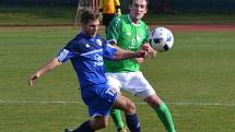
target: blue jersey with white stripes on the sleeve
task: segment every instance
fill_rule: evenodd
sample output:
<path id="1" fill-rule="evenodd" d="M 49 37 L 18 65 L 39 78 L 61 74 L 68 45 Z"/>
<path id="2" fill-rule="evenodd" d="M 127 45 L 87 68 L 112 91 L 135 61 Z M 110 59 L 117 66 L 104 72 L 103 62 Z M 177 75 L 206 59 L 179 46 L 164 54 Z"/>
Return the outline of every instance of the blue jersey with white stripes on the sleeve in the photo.
<path id="1" fill-rule="evenodd" d="M 102 36 L 91 38 L 81 32 L 59 51 L 57 58 L 61 62 L 71 60 L 83 88 L 107 82 L 103 58 L 111 60 L 116 51 Z"/>

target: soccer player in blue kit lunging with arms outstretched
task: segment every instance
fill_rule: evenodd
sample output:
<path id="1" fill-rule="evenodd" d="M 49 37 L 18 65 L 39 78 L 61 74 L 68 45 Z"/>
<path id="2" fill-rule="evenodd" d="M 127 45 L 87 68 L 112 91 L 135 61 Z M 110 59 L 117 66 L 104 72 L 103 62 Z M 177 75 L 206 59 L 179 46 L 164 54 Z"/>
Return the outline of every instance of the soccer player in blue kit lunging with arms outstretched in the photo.
<path id="1" fill-rule="evenodd" d="M 111 108 L 125 111 L 129 130 L 140 132 L 134 104 L 107 85 L 103 58 L 121 60 L 148 58 L 149 55 L 145 51 L 133 52 L 114 48 L 96 34 L 98 25 L 98 14 L 84 11 L 81 15 L 81 33 L 70 40 L 54 59 L 33 73 L 28 79 L 28 84 L 33 86 L 36 79 L 70 59 L 80 82 L 82 99 L 89 107 L 91 118 L 74 130 L 66 129 L 66 132 L 94 132 L 105 128 Z"/>

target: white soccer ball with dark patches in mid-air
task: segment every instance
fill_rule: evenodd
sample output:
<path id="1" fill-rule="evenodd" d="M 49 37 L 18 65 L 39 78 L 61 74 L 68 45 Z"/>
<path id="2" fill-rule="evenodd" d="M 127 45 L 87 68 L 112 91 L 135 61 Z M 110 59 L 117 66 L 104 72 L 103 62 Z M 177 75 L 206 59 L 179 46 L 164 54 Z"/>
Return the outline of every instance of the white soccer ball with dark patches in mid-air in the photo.
<path id="1" fill-rule="evenodd" d="M 165 27 L 156 27 L 150 33 L 150 45 L 156 51 L 167 51 L 173 47 L 173 33 Z"/>

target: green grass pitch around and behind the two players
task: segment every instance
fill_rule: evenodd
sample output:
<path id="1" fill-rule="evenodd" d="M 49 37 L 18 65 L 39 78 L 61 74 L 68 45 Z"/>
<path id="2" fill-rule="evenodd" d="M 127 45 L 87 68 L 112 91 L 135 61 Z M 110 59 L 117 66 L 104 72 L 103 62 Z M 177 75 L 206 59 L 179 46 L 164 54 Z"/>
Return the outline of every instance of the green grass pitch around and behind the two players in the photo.
<path id="1" fill-rule="evenodd" d="M 87 119 L 70 62 L 27 85 L 77 29 L 0 29 L 0 132 L 62 132 Z M 171 51 L 142 64 L 168 105 L 178 132 L 234 132 L 235 32 L 175 32 Z M 125 95 L 127 95 L 125 93 Z M 164 132 L 156 113 L 137 103 L 143 132 Z M 114 123 L 99 132 L 115 132 Z"/>

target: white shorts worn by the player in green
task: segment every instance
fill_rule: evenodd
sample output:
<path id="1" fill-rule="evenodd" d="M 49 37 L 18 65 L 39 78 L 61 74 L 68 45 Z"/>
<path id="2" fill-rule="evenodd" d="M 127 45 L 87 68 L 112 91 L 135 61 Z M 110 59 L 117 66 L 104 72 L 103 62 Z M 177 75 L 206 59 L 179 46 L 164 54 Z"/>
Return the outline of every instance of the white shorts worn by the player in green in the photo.
<path id="1" fill-rule="evenodd" d="M 106 76 L 108 85 L 118 92 L 124 89 L 142 99 L 155 94 L 155 91 L 143 76 L 142 72 L 106 73 Z"/>

